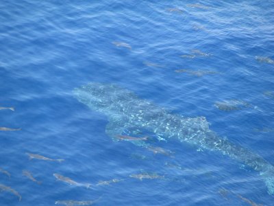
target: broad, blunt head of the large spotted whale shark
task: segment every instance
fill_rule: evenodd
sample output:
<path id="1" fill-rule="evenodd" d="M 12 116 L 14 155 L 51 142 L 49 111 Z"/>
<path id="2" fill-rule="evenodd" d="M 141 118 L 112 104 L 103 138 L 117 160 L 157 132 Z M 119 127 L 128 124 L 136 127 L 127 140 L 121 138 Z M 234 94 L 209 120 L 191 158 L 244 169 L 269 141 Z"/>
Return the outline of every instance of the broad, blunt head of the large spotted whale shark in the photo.
<path id="1" fill-rule="evenodd" d="M 94 111 L 107 111 L 110 108 L 129 102 L 136 95 L 116 84 L 91 82 L 73 89 L 73 95 Z"/>

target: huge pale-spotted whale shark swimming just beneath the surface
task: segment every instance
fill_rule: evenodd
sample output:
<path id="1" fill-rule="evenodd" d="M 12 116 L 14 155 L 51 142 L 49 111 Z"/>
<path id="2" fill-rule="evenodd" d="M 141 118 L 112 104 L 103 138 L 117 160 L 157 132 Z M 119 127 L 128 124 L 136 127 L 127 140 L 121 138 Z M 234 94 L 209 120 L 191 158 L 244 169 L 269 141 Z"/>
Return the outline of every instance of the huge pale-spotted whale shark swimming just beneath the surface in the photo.
<path id="1" fill-rule="evenodd" d="M 129 131 L 148 131 L 160 140 L 179 139 L 183 143 L 202 149 L 220 152 L 260 172 L 269 194 L 274 194 L 274 167 L 263 157 L 219 137 L 210 130 L 206 117 L 184 117 L 168 109 L 143 100 L 134 92 L 116 84 L 90 82 L 73 89 L 73 96 L 92 111 L 108 117 L 105 133 L 114 141 L 117 135 L 129 135 Z M 149 148 L 148 141 L 132 141 Z"/>

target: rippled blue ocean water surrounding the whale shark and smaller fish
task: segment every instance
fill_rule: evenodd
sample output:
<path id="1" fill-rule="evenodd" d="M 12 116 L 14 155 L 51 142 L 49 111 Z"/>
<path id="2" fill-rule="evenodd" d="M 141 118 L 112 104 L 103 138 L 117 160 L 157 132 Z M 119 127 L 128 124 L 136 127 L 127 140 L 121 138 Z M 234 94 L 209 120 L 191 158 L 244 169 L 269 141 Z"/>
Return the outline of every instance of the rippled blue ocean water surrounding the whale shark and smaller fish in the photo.
<path id="1" fill-rule="evenodd" d="M 0 205 L 98 198 L 94 205 L 273 205 L 259 172 L 175 140 L 154 143 L 172 156 L 112 141 L 105 115 L 72 95 L 88 82 L 118 84 L 171 113 L 206 117 L 211 130 L 273 165 L 273 1 L 1 1 L 0 8 L 0 106 L 15 108 L 0 110 L 0 127 L 21 128 L 0 131 L 0 168 L 10 174 L 0 172 L 0 184 L 22 196 L 2 191 Z M 216 106 L 232 100 L 246 106 Z M 27 152 L 64 161 L 29 160 Z"/>

